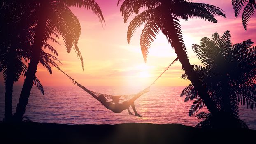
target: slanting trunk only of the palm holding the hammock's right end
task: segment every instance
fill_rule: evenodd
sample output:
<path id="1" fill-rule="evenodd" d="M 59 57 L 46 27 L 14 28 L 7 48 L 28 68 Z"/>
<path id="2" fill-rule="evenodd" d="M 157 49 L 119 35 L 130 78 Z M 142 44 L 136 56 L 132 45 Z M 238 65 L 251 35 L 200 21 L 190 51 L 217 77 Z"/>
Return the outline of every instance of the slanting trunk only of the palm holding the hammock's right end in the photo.
<path id="1" fill-rule="evenodd" d="M 166 13 L 167 12 L 167 13 Z M 191 64 L 189 63 L 189 59 L 184 51 L 185 46 L 183 45 L 182 39 L 182 31 L 179 28 L 179 23 L 175 20 L 172 16 L 169 16 L 165 19 L 165 15 L 169 15 L 169 9 L 166 7 L 166 11 L 163 11 L 163 19 L 161 19 L 164 26 L 161 27 L 161 31 L 164 32 L 165 35 L 171 35 L 171 39 L 169 38 L 169 43 L 175 50 L 175 53 L 178 56 L 180 63 L 182 64 L 182 68 L 185 70 L 185 73 L 188 75 L 189 80 L 195 87 L 196 91 L 200 98 L 202 98 L 205 106 L 209 110 L 210 113 L 213 115 L 219 114 L 219 109 L 216 107 L 214 101 L 211 99 L 210 95 L 208 94 L 205 86 L 203 86 L 202 82 L 199 80 L 197 74 L 193 70 Z"/>

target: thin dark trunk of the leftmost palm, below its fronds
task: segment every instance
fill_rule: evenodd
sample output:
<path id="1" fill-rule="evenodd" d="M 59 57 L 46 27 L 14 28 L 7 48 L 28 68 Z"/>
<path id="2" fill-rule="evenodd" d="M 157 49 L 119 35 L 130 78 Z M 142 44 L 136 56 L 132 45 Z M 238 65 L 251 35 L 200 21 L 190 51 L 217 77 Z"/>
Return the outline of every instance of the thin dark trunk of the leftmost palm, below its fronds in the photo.
<path id="1" fill-rule="evenodd" d="M 12 118 L 12 91 L 13 91 L 13 71 L 8 70 L 5 84 L 5 118 L 4 121 L 11 121 Z"/>

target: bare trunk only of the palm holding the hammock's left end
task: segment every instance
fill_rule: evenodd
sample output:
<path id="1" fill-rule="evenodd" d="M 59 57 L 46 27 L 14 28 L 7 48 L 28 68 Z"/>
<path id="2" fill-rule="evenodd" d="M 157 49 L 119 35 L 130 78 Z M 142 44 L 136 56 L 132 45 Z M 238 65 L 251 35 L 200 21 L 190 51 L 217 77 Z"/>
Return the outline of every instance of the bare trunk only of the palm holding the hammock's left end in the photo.
<path id="1" fill-rule="evenodd" d="M 24 80 L 23 88 L 21 90 L 21 95 L 19 98 L 19 103 L 16 108 L 16 113 L 14 118 L 16 121 L 22 121 L 23 115 L 26 111 L 26 105 L 28 104 L 28 98 L 30 96 L 30 91 L 33 86 L 33 80 L 35 78 L 35 73 L 37 72 L 37 65 L 40 60 L 40 52 L 44 40 L 44 32 L 46 29 L 47 14 L 44 12 L 44 7 L 46 5 L 42 4 L 40 6 L 40 15 L 36 26 L 36 33 L 34 39 L 34 46 L 31 53 L 30 63 L 28 63 L 28 70 L 26 73 L 26 78 Z"/>

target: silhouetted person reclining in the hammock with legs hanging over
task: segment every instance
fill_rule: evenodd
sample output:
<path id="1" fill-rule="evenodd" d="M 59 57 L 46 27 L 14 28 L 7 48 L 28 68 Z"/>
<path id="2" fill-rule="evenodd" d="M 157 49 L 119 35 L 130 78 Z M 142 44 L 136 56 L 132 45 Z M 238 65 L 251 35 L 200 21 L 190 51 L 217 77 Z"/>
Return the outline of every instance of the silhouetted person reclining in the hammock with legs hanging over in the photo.
<path id="1" fill-rule="evenodd" d="M 114 113 L 121 113 L 123 110 L 127 109 L 129 114 L 132 115 L 133 113 L 130 112 L 130 109 L 129 109 L 129 107 L 132 106 L 135 116 L 142 117 L 140 114 L 137 113 L 133 99 L 129 101 L 124 101 L 121 104 L 119 103 L 114 104 L 112 102 L 108 102 L 107 99 L 104 97 L 104 95 L 99 95 L 98 100 L 100 101 L 100 103 L 102 103 L 102 105 L 104 105 L 107 109 L 113 111 Z"/>

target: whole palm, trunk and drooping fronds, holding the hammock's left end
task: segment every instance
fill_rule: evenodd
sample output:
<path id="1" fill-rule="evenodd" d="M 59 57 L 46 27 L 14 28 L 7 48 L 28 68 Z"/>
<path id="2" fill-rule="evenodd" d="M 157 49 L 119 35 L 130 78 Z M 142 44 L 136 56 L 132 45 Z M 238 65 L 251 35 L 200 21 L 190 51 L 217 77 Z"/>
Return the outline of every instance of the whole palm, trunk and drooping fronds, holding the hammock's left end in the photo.
<path id="1" fill-rule="evenodd" d="M 104 21 L 100 7 L 94 0 L 30 0 L 28 5 L 35 6 L 36 21 L 35 25 L 33 25 L 35 27 L 35 37 L 26 78 L 16 113 L 14 114 L 16 121 L 21 121 L 25 113 L 33 85 L 33 78 L 37 71 L 37 65 L 40 62 L 42 46 L 50 39 L 51 35 L 55 35 L 56 37 L 60 35 L 64 40 L 67 52 L 69 53 L 71 49 L 74 49 L 83 66 L 83 58 L 77 46 L 81 26 L 69 7 L 77 6 L 90 9 L 96 14 L 101 23 Z"/>

